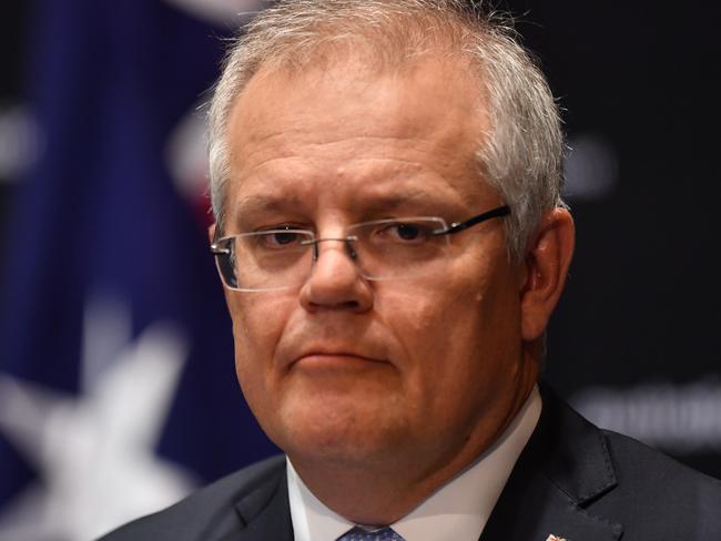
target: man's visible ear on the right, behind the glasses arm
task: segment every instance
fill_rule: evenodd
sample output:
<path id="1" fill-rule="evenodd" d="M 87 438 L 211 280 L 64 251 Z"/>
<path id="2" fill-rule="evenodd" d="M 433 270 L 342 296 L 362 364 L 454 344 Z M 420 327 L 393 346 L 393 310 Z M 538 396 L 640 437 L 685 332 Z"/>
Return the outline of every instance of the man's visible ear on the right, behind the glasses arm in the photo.
<path id="1" fill-rule="evenodd" d="M 566 208 L 544 216 L 526 253 L 526 279 L 520 290 L 521 336 L 532 341 L 542 336 L 563 290 L 573 255 L 573 218 Z"/>

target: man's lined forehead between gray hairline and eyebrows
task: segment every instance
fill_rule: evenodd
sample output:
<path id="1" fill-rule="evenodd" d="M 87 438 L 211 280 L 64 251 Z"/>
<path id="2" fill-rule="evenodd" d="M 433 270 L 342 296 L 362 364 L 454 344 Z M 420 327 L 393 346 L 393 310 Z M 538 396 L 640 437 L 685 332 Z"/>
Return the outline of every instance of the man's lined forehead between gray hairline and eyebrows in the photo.
<path id="1" fill-rule="evenodd" d="M 479 196 L 487 123 L 478 82 L 445 57 L 383 71 L 356 58 L 261 70 L 230 115 L 229 211 L 314 190 Z"/>

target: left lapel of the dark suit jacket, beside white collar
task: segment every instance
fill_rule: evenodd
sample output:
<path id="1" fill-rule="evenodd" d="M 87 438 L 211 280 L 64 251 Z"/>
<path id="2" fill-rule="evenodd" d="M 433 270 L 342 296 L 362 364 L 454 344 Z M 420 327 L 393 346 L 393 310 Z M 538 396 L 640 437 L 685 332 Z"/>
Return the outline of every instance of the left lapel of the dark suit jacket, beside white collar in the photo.
<path id="1" fill-rule="evenodd" d="M 293 541 L 285 467 L 235 502 L 241 530 L 220 541 Z"/>

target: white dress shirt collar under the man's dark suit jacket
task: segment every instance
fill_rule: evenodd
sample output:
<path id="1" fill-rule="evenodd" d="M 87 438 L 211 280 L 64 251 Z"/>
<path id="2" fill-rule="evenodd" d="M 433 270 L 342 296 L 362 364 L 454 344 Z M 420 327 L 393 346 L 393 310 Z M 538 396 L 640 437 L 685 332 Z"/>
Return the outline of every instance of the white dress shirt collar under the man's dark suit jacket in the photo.
<path id="1" fill-rule="evenodd" d="M 390 528 L 406 541 L 478 540 L 540 411 L 541 398 L 535 387 L 500 438 L 476 462 Z M 287 478 L 295 541 L 335 541 L 357 525 L 313 496 L 290 460 Z"/>

